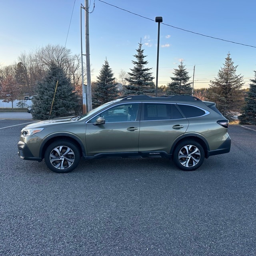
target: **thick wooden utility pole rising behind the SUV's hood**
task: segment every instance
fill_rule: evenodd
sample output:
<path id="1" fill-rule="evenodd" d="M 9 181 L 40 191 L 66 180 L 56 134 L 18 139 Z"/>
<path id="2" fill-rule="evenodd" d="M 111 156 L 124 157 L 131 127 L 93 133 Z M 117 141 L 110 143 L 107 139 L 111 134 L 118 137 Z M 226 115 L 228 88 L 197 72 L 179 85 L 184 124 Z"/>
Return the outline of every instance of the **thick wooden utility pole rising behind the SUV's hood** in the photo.
<path id="1" fill-rule="evenodd" d="M 85 0 L 85 50 L 86 50 L 86 78 L 87 78 L 87 110 L 92 110 L 92 86 L 90 68 L 90 43 L 89 43 L 89 0 Z"/>

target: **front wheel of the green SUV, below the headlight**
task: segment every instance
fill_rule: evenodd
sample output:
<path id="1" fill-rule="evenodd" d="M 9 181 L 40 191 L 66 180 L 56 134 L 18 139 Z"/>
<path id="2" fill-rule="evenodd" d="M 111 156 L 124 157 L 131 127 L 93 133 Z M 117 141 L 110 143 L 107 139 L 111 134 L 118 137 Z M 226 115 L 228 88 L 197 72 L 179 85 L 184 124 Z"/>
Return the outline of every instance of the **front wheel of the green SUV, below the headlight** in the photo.
<path id="1" fill-rule="evenodd" d="M 44 161 L 53 172 L 71 172 L 79 164 L 80 150 L 72 142 L 57 140 L 46 149 Z"/>

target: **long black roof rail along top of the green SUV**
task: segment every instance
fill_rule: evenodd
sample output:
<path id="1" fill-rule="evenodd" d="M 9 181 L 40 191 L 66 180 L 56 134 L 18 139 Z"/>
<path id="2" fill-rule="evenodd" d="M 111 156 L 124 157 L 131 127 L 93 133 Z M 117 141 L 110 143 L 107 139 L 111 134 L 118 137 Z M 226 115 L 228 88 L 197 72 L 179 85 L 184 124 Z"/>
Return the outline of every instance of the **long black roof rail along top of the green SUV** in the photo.
<path id="1" fill-rule="evenodd" d="M 151 97 L 151 96 L 142 94 L 142 95 L 126 96 L 125 98 L 122 98 L 121 101 L 123 100 L 165 100 L 166 98 L 168 98 L 168 100 L 181 100 L 181 101 L 200 100 L 199 98 L 195 96 L 190 96 L 190 95 L 163 95 L 159 97 Z"/>

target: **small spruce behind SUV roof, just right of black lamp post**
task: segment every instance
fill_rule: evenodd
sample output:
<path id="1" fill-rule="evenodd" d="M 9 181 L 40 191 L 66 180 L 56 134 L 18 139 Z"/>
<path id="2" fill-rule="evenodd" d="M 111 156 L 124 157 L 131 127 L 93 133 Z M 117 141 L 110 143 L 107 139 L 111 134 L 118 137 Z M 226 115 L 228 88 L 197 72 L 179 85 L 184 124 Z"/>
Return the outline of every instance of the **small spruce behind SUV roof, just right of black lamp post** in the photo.
<path id="1" fill-rule="evenodd" d="M 171 77 L 172 82 L 167 84 L 167 93 L 169 95 L 191 95 L 192 83 L 188 82 L 191 76 L 188 75 L 188 71 L 182 61 L 178 65 L 178 68 L 174 68 L 174 72 L 172 74 L 174 74 L 174 77 Z"/>

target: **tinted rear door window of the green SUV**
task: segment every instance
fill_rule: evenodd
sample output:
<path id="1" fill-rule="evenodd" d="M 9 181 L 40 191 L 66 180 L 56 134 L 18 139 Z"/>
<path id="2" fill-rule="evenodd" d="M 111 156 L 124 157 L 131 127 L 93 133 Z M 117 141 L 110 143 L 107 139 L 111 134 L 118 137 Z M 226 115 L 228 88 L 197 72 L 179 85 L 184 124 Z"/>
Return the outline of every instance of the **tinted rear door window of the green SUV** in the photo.
<path id="1" fill-rule="evenodd" d="M 183 118 L 174 104 L 145 103 L 144 120 L 171 120 Z"/>

